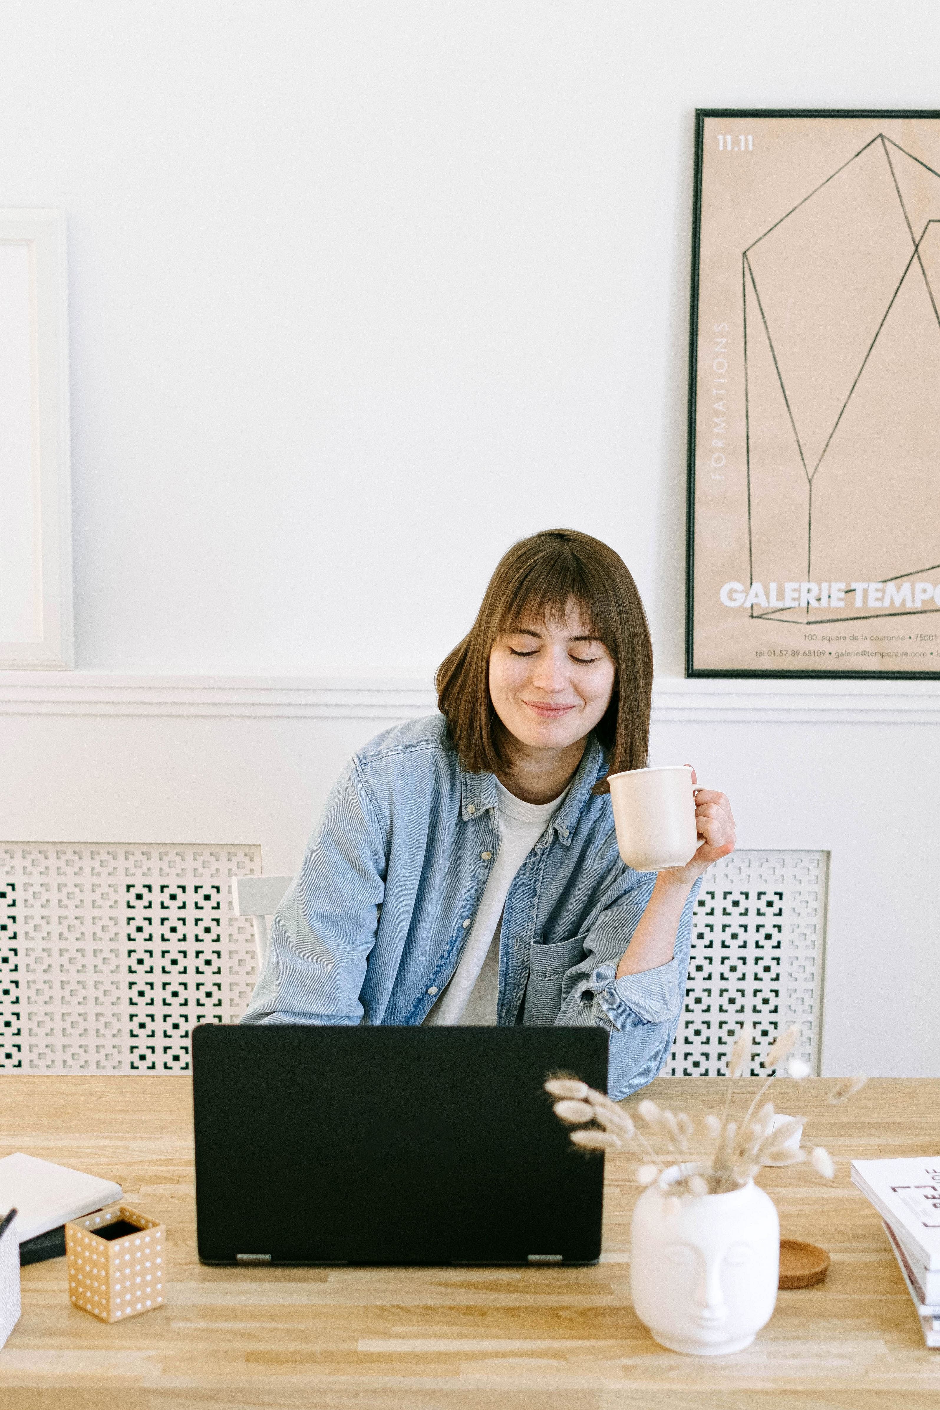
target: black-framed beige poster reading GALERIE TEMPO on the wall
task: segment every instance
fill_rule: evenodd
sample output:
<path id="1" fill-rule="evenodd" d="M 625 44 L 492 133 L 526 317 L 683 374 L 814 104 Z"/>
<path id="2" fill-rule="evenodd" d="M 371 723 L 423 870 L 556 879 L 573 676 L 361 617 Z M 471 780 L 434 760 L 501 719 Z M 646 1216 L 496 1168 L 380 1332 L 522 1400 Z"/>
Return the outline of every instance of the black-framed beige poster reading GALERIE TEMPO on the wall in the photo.
<path id="1" fill-rule="evenodd" d="M 686 675 L 940 677 L 940 113 L 696 113 Z"/>

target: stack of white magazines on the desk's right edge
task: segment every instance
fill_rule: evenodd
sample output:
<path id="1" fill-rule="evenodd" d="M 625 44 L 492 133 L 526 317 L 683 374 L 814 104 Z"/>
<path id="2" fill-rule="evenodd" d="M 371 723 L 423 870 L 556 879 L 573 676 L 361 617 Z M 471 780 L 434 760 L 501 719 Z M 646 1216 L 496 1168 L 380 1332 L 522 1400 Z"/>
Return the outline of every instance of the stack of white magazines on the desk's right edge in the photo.
<path id="1" fill-rule="evenodd" d="M 853 1160 L 851 1180 L 881 1214 L 923 1340 L 940 1347 L 940 1156 Z"/>

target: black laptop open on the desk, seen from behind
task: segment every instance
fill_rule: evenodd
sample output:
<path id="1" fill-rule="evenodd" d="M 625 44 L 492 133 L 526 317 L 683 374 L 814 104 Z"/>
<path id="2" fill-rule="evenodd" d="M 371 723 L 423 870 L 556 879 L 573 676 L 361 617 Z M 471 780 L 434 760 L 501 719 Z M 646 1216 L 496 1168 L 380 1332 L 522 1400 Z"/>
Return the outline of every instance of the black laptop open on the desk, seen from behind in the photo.
<path id="1" fill-rule="evenodd" d="M 204 1263 L 593 1263 L 603 1155 L 543 1083 L 600 1028 L 193 1029 Z"/>

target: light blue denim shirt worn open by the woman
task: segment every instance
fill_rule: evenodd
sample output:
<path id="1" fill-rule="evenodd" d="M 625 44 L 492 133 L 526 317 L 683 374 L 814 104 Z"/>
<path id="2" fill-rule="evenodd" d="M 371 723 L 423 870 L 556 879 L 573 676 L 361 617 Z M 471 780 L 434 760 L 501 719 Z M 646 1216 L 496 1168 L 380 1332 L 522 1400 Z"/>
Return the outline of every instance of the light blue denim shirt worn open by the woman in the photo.
<path id="1" fill-rule="evenodd" d="M 606 1028 L 619 1098 L 669 1055 L 698 884 L 674 959 L 616 979 L 655 877 L 620 860 L 610 799 L 590 792 L 605 767 L 592 735 L 509 888 L 497 1022 Z M 420 1024 L 457 969 L 499 840 L 495 778 L 461 766 L 443 716 L 378 735 L 330 792 L 242 1022 Z"/>

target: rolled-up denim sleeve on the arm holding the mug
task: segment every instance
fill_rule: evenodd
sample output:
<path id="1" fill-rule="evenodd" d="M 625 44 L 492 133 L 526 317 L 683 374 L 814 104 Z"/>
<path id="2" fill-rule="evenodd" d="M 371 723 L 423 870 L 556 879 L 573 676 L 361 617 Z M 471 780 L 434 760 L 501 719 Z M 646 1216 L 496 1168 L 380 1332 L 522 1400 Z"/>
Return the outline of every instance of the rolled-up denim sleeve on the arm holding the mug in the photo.
<path id="1" fill-rule="evenodd" d="M 616 977 L 617 964 L 630 943 L 638 916 L 630 916 L 633 925 L 624 939 L 626 908 L 612 907 L 585 938 L 588 959 L 568 971 L 567 990 L 572 977 L 576 977 L 557 1022 L 607 1029 L 610 1035 L 607 1091 L 614 1101 L 653 1081 L 669 1056 L 685 1000 L 692 911 L 700 887 L 699 880 L 689 893 L 679 919 L 674 957 L 667 964 L 643 970 L 640 974 Z M 612 936 L 617 931 L 620 952 L 612 955 Z M 585 973 L 592 956 L 593 967 Z M 600 963 L 596 963 L 598 959 Z"/>

